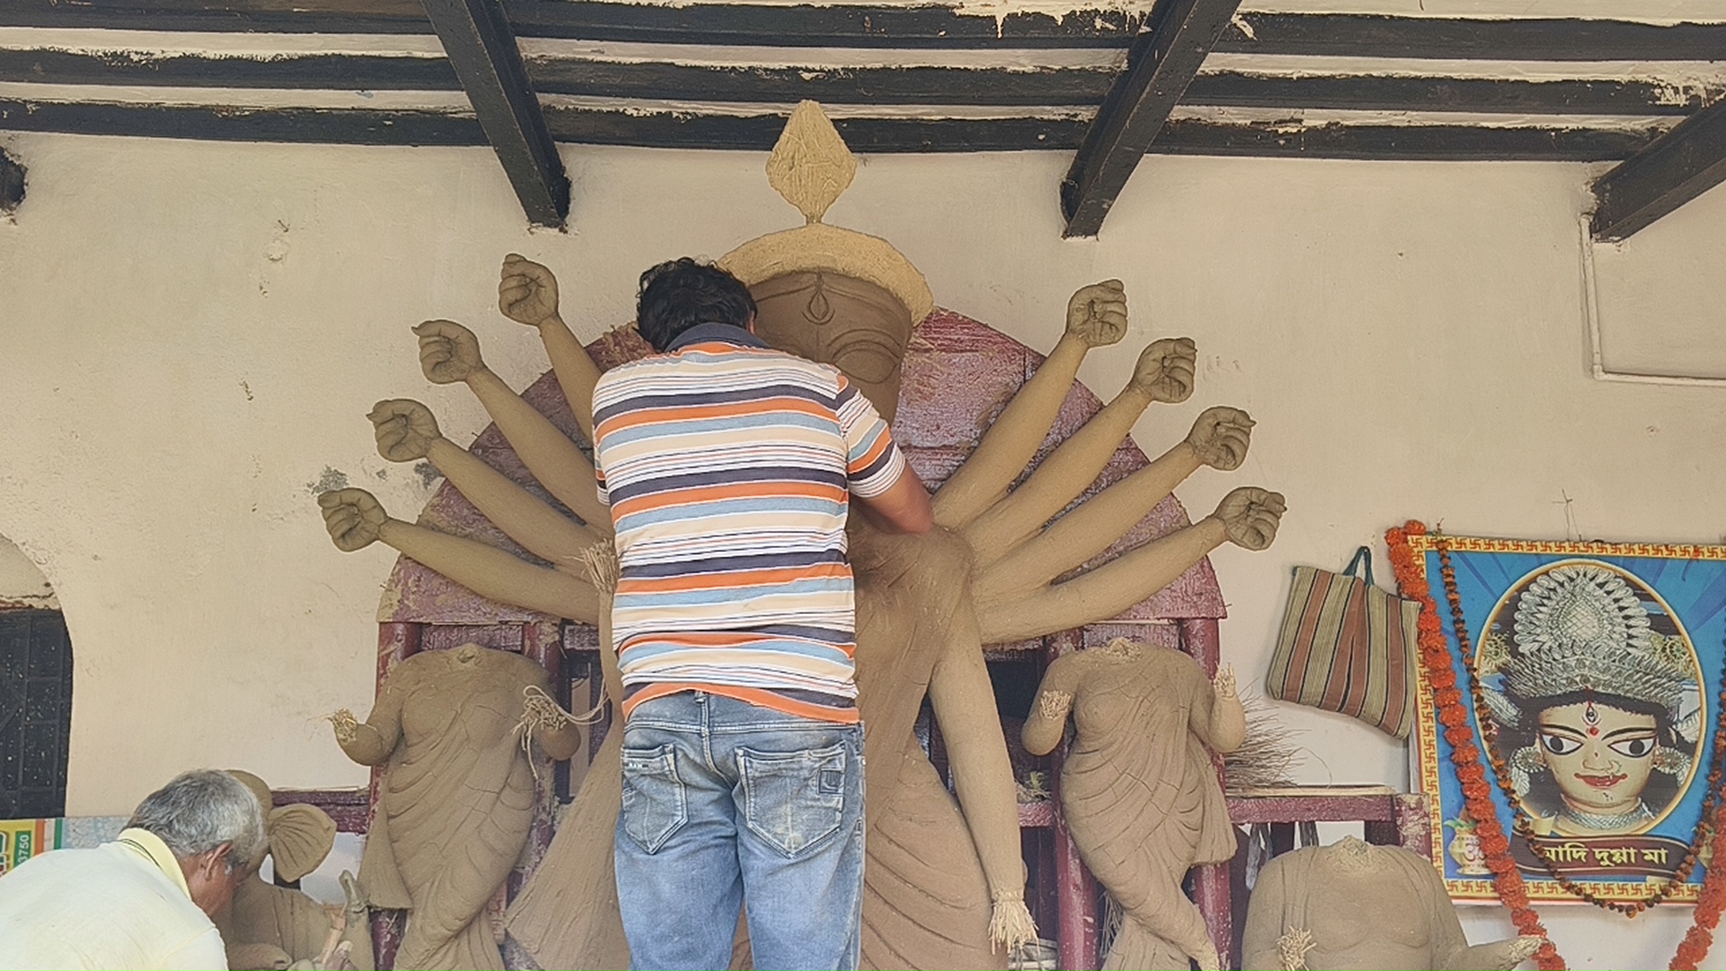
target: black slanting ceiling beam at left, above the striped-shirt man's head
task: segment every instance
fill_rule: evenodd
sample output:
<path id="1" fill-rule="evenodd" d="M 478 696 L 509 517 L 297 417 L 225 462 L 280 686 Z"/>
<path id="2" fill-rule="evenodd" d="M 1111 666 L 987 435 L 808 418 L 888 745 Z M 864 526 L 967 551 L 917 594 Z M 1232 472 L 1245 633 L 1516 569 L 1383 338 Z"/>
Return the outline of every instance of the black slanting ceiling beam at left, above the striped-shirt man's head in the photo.
<path id="1" fill-rule="evenodd" d="M 528 85 L 521 50 L 497 0 L 423 0 L 473 114 L 504 164 L 528 221 L 563 226 L 570 176 Z"/>

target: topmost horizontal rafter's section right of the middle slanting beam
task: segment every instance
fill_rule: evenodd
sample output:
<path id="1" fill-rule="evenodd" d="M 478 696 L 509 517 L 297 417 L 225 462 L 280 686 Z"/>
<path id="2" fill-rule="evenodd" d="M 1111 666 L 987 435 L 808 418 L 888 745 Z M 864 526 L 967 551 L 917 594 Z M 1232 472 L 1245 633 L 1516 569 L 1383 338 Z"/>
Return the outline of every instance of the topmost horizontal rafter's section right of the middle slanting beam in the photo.
<path id="1" fill-rule="evenodd" d="M 1215 50 L 1464 60 L 1721 60 L 1726 24 L 1248 12 L 1224 31 Z"/>

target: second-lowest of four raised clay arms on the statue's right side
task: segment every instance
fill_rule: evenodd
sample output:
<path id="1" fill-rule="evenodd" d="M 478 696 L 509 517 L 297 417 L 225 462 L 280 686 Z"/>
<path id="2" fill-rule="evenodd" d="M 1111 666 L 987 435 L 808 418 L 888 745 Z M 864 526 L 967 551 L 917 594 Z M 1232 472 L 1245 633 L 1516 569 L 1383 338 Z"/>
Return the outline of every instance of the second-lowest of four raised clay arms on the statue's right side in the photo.
<path id="1" fill-rule="evenodd" d="M 1187 439 L 1115 482 L 977 575 L 977 596 L 1032 593 L 1108 549 L 1201 465 L 1234 470 L 1246 460 L 1253 420 L 1236 408 L 1210 408 Z M 1044 461 L 1048 466 L 1055 461 Z M 1041 472 L 1041 470 L 1039 470 Z"/>

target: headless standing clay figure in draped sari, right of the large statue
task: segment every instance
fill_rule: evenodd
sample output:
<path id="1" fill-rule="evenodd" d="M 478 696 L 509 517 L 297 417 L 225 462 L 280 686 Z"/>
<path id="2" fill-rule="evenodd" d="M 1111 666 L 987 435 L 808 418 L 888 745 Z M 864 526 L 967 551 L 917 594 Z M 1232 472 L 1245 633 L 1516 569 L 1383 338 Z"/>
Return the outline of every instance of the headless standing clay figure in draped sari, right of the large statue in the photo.
<path id="1" fill-rule="evenodd" d="M 1061 809 L 1079 855 L 1120 904 L 1105 971 L 1220 971 L 1186 873 L 1234 855 L 1234 828 L 1212 752 L 1246 738 L 1246 710 L 1224 669 L 1215 686 L 1191 657 L 1124 638 L 1055 660 L 1024 741 L 1046 755 L 1067 715 L 1077 734 L 1061 765 Z"/>

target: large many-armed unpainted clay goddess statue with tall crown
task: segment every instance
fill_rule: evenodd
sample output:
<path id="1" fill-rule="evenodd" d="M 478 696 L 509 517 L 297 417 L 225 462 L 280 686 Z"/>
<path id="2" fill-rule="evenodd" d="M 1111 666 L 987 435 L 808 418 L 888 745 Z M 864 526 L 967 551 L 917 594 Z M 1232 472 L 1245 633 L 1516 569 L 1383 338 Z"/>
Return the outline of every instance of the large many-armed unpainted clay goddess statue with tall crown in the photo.
<path id="1" fill-rule="evenodd" d="M 906 344 L 934 301 L 922 275 L 889 244 L 818 221 L 849 183 L 844 161 L 849 152 L 820 109 L 799 105 L 770 171 L 811 223 L 746 244 L 720 263 L 756 295 L 763 340 L 841 368 L 891 418 Z M 539 328 L 576 422 L 590 434 L 599 368 L 557 316 L 551 271 L 507 257 L 499 308 Z M 935 494 L 941 529 L 887 536 L 863 517 L 851 518 L 858 701 L 868 760 L 866 968 L 994 969 L 1006 962 L 1001 943 L 1032 933 L 1013 774 L 982 644 L 1113 617 L 1215 546 L 1232 541 L 1262 549 L 1276 534 L 1282 498 L 1236 489 L 1213 517 L 1061 579 L 1108 549 L 1200 465 L 1229 470 L 1244 458 L 1251 420 L 1213 408 L 1186 442 L 1044 530 L 1098 477 L 1151 401 L 1182 401 L 1191 392 L 1191 340 L 1155 342 L 1127 389 L 1010 491 L 1048 435 L 1086 352 L 1120 340 L 1125 327 L 1118 282 L 1074 294 L 1053 354 Z M 428 321 L 416 332 L 426 377 L 466 382 L 535 479 L 583 522 L 570 522 L 437 437 L 423 406 L 385 403 L 373 422 L 387 458 L 428 458 L 492 524 L 551 567 L 390 518 L 359 489 L 319 498 L 337 546 L 359 549 L 381 539 L 482 596 L 587 624 L 604 620 L 604 591 L 582 568 L 585 553 L 611 530 L 597 506 L 590 461 L 485 368 L 471 332 L 450 321 Z M 613 339 L 630 342 L 623 332 Z M 633 339 L 633 351 L 647 347 Z M 1051 534 L 1058 543 L 1048 539 Z M 987 613 L 979 610 L 984 598 L 992 605 Z M 616 658 L 602 660 L 616 701 Z M 956 802 L 913 734 L 925 695 L 948 741 Z M 614 897 L 606 892 L 620 774 L 609 741 L 539 873 L 511 907 L 511 935 L 547 968 L 621 969 L 628 962 Z"/>

